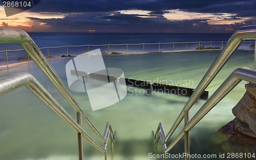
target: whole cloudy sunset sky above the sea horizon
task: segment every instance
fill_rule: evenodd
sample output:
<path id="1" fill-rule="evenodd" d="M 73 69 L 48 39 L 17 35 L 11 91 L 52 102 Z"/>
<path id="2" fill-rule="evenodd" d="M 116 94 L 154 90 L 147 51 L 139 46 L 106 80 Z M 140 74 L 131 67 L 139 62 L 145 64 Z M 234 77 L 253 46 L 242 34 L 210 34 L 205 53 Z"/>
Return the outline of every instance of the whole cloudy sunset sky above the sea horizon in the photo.
<path id="1" fill-rule="evenodd" d="M 41 0 L 6 16 L 3 28 L 27 32 L 232 33 L 256 25 L 256 0 Z"/>

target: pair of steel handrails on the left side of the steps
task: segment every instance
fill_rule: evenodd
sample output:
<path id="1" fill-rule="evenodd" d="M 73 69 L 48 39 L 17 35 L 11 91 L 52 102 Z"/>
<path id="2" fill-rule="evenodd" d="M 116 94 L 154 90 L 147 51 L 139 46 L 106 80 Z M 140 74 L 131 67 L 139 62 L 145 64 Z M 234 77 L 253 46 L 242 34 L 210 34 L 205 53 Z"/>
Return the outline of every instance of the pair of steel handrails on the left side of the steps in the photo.
<path id="1" fill-rule="evenodd" d="M 105 160 L 107 159 L 108 140 L 111 140 L 111 150 L 115 142 L 115 133 L 113 132 L 110 123 L 106 123 L 103 136 L 93 125 L 88 116 L 83 112 L 73 95 L 68 88 L 63 84 L 60 77 L 52 68 L 47 58 L 42 54 L 35 42 L 23 30 L 0 28 L 0 43 L 19 43 L 28 53 L 30 58 L 44 72 L 52 84 L 58 89 L 62 96 L 77 112 L 77 122 L 60 106 L 60 104 L 42 87 L 39 82 L 29 73 L 20 73 L 7 78 L 0 79 L 0 95 L 8 93 L 21 86 L 26 86 L 33 92 L 41 101 L 43 101 L 53 112 L 55 112 L 62 120 L 70 125 L 78 134 L 78 153 L 79 160 L 83 159 L 82 137 L 86 139 L 92 146 L 104 153 Z M 82 119 L 93 130 L 94 134 L 103 142 L 103 146 L 94 141 L 86 131 L 81 127 Z"/>

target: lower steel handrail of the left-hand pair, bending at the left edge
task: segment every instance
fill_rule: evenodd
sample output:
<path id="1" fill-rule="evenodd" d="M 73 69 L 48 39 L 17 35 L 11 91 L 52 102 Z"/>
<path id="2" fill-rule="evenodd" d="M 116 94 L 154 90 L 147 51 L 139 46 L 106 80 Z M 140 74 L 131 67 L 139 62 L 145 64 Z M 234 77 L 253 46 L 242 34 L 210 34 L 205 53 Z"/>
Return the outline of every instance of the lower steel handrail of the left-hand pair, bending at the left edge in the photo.
<path id="1" fill-rule="evenodd" d="M 0 79 L 0 96 L 17 88 L 26 86 L 37 98 L 44 102 L 54 113 L 69 124 L 77 133 L 82 134 L 89 143 L 101 152 L 105 150 L 97 144 L 86 131 L 62 108 L 52 95 L 30 73 L 19 73 Z"/>

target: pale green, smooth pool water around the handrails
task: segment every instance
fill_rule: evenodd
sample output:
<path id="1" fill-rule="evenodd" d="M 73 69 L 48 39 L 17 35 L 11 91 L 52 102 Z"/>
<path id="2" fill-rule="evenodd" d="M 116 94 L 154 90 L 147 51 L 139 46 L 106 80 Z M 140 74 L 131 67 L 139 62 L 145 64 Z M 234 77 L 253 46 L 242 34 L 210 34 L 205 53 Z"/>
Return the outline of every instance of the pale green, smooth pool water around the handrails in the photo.
<path id="1" fill-rule="evenodd" d="M 155 80 L 158 83 L 176 82 L 178 86 L 196 88 L 219 53 L 220 51 L 193 51 L 114 56 L 104 57 L 104 62 L 106 67 L 121 68 L 125 77 L 147 81 Z M 56 60 L 50 63 L 67 85 L 65 71 L 67 60 Z M 207 88 L 209 94 L 211 95 L 238 67 L 253 67 L 252 50 L 239 50 L 233 55 Z M 72 107 L 34 63 L 3 70 L 0 72 L 0 77 L 18 72 L 29 72 L 34 75 L 63 108 L 73 118 L 76 117 Z M 186 81 L 190 83 L 185 84 Z M 182 83 L 180 84 L 180 82 Z M 218 148 L 215 148 L 208 139 L 221 126 L 234 118 L 231 109 L 243 96 L 244 84 L 245 82 L 240 83 L 191 130 L 191 153 L 208 154 L 218 151 Z M 71 92 L 102 134 L 108 121 L 117 131 L 114 159 L 150 159 L 148 153 L 154 153 L 152 130 L 155 131 L 158 123 L 162 122 L 167 132 L 188 99 L 184 96 L 167 94 L 159 96 L 131 95 L 132 91 L 134 88 L 131 88 L 127 96 L 120 102 L 94 112 L 92 112 L 86 93 Z M 0 101 L 0 159 L 78 159 L 76 132 L 30 93 L 26 87 L 1 96 Z M 195 104 L 191 109 L 190 117 L 204 102 L 205 100 L 199 100 Z M 85 127 L 86 124 L 83 123 L 83 126 Z M 98 140 L 88 127 L 85 128 L 89 135 Z M 179 132 L 180 130 L 177 130 L 175 135 Z M 102 144 L 100 141 L 97 142 Z M 84 141 L 83 145 L 85 159 L 104 158 L 103 154 L 88 142 Z M 161 151 L 162 147 L 159 146 L 159 149 Z M 171 152 L 184 152 L 183 143 L 179 143 L 179 146 Z"/>

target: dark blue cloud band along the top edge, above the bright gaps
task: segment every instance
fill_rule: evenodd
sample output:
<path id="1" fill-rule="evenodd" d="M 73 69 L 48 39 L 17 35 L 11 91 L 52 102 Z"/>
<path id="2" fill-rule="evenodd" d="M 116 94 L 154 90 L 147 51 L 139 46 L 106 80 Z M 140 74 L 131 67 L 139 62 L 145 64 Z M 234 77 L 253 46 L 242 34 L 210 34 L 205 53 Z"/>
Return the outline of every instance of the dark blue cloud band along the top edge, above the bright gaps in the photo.
<path id="1" fill-rule="evenodd" d="M 147 10 L 156 12 L 164 12 L 165 10 L 171 9 L 185 9 L 185 10 L 201 10 L 210 9 L 212 13 L 214 10 L 232 10 L 234 6 L 241 6 L 247 4 L 253 4 L 255 0 L 245 1 L 230 1 L 230 0 L 216 0 L 216 1 L 205 1 L 205 0 L 185 0 L 185 1 L 169 1 L 169 0 L 156 0 L 156 1 L 141 1 L 141 0 L 94 0 L 94 1 L 62 1 L 62 0 L 44 0 L 41 1 L 37 6 L 32 8 L 32 11 L 37 12 L 111 12 L 118 10 Z M 218 5 L 217 5 L 218 4 Z M 255 4 L 254 4 L 255 6 Z M 219 7 L 219 8 L 218 8 Z M 252 6 L 247 6 L 251 10 L 254 9 Z M 220 9 L 221 8 L 221 9 Z M 236 11 L 232 11 L 236 12 Z"/>

